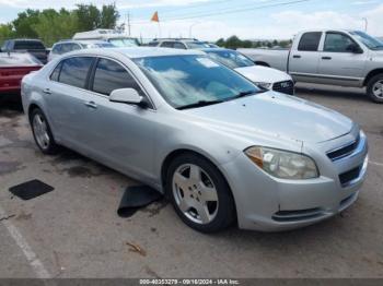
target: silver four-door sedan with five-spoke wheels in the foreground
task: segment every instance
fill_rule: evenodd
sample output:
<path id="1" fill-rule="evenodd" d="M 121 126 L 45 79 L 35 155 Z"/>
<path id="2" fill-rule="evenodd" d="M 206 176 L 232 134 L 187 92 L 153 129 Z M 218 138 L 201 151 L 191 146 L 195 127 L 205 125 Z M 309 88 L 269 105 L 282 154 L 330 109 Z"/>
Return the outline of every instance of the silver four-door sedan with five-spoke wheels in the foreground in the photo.
<path id="1" fill-rule="evenodd" d="M 367 139 L 349 118 L 259 90 L 201 51 L 71 52 L 26 75 L 22 97 L 43 153 L 65 145 L 148 183 L 199 231 L 323 221 L 365 176 Z"/>

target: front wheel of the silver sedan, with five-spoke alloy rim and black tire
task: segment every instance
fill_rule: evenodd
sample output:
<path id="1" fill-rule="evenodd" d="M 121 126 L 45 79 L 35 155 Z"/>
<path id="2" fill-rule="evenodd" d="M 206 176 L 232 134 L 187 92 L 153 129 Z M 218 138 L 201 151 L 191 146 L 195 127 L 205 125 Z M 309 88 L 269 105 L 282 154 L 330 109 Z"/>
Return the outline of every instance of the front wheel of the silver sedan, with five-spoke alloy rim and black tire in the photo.
<path id="1" fill-rule="evenodd" d="M 209 234 L 234 222 L 229 184 L 208 159 L 192 153 L 179 155 L 170 164 L 166 182 L 166 194 L 175 212 L 189 227 Z"/>

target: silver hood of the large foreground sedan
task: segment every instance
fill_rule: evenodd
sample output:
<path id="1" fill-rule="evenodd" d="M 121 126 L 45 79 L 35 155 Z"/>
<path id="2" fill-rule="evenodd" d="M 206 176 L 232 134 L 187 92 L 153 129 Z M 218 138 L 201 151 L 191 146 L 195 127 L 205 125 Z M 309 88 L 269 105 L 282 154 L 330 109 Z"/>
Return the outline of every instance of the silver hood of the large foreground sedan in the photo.
<path id="1" fill-rule="evenodd" d="M 252 139 L 258 134 L 320 143 L 349 133 L 353 126 L 334 110 L 275 92 L 185 111 L 202 126 Z"/>

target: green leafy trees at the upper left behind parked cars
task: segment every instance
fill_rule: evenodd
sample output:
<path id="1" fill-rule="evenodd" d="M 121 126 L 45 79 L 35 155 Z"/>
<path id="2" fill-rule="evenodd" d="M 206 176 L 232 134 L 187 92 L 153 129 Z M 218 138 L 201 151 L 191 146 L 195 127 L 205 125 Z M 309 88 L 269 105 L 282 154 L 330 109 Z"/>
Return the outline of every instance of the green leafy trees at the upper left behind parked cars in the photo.
<path id="1" fill-rule="evenodd" d="M 119 13 L 116 4 L 77 4 L 74 10 L 27 9 L 10 23 L 0 24 L 0 44 L 10 38 L 39 38 L 46 46 L 72 38 L 77 32 L 116 28 Z"/>

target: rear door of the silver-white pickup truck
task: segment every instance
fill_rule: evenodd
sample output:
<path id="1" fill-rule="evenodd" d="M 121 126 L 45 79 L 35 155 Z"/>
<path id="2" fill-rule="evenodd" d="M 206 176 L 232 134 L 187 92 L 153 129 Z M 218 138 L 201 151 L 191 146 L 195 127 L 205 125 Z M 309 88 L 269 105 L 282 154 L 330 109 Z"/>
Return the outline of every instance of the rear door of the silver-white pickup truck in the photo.
<path id="1" fill-rule="evenodd" d="M 298 46 L 292 48 L 289 59 L 291 75 L 310 81 L 317 74 L 322 34 L 322 32 L 307 32 L 298 39 Z"/>

